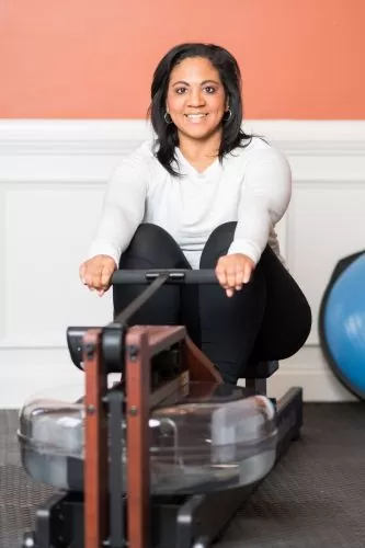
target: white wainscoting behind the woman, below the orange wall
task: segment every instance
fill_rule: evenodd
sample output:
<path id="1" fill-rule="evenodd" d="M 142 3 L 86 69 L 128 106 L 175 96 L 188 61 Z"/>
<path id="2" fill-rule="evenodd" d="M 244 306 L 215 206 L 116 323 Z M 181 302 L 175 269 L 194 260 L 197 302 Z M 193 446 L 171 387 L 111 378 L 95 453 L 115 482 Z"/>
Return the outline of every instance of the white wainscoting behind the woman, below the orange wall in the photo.
<path id="1" fill-rule="evenodd" d="M 281 396 L 304 387 L 307 401 L 351 400 L 318 341 L 321 295 L 338 260 L 365 247 L 365 123 L 250 121 L 287 155 L 294 192 L 278 227 L 288 266 L 313 310 L 307 345 L 270 380 Z M 79 384 L 66 347 L 70 324 L 111 319 L 78 278 L 107 179 L 150 129 L 141 121 L 0 122 L 0 407 Z"/>

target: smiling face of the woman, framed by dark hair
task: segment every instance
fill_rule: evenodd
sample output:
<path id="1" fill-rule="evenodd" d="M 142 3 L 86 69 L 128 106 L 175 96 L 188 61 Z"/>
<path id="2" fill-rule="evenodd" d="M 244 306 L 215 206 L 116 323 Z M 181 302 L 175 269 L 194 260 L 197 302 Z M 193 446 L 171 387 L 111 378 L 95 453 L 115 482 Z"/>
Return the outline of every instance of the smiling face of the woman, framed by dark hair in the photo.
<path id="1" fill-rule="evenodd" d="M 205 139 L 220 132 L 228 109 L 218 70 L 204 57 L 186 58 L 171 75 L 167 112 L 180 135 Z"/>

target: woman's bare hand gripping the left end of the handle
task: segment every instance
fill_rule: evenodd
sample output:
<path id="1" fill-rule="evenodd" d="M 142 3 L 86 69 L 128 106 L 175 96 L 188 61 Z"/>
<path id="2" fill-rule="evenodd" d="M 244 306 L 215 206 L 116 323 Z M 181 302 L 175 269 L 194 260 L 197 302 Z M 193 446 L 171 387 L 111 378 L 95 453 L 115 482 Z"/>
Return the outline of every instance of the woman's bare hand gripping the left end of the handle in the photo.
<path id="1" fill-rule="evenodd" d="M 114 259 L 109 255 L 95 255 L 80 266 L 80 279 L 90 290 L 104 295 L 111 286 L 111 278 L 116 270 Z"/>

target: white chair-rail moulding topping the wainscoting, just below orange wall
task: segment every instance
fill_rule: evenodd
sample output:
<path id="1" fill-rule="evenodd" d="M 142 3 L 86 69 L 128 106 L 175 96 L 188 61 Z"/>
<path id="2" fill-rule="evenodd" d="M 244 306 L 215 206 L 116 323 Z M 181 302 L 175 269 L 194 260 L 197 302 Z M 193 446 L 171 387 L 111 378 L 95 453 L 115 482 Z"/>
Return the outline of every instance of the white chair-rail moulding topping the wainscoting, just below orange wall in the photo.
<path id="1" fill-rule="evenodd" d="M 362 156 L 365 148 L 365 121 L 248 119 L 242 127 L 287 153 Z M 126 153 L 152 136 L 149 121 L 139 118 L 0 118 L 0 150 L 9 155 Z"/>

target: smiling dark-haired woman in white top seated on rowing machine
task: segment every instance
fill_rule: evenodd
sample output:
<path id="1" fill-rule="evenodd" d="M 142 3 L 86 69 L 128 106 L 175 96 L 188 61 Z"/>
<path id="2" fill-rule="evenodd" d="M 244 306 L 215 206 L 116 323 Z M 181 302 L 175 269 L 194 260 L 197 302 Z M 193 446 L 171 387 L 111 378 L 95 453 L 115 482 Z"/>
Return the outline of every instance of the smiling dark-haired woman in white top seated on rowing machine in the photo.
<path id="1" fill-rule="evenodd" d="M 102 295 L 116 267 L 215 269 L 219 284 L 163 287 L 134 323 L 185 324 L 236 384 L 252 362 L 297 352 L 311 327 L 274 231 L 290 199 L 289 165 L 241 130 L 240 71 L 221 47 L 170 50 L 155 71 L 149 112 L 156 140 L 116 169 L 80 277 Z M 140 292 L 113 286 L 114 313 Z"/>

